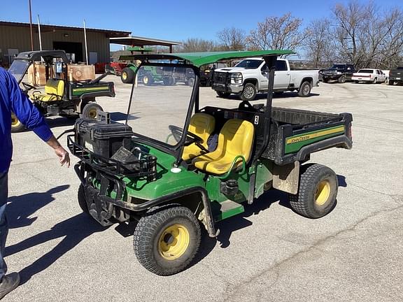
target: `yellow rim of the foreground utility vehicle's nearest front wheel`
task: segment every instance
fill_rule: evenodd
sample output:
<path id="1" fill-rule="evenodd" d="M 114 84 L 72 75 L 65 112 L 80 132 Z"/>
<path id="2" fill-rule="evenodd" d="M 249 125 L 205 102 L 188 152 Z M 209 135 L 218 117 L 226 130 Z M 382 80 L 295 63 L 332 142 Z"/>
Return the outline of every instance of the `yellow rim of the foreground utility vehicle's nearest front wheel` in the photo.
<path id="1" fill-rule="evenodd" d="M 175 260 L 188 250 L 189 243 L 188 229 L 183 224 L 174 224 L 162 232 L 158 240 L 158 252 L 164 259 Z"/>

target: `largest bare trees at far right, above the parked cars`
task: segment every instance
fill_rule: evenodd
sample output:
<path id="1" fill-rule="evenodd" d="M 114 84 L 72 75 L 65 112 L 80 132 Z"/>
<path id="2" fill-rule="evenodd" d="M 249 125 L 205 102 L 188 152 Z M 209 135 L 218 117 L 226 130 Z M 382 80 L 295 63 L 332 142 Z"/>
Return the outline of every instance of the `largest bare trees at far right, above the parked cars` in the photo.
<path id="1" fill-rule="evenodd" d="M 399 8 L 381 13 L 374 2 L 350 1 L 332 9 L 337 29 L 339 59 L 356 68 L 390 68 L 403 51 L 403 13 Z"/>

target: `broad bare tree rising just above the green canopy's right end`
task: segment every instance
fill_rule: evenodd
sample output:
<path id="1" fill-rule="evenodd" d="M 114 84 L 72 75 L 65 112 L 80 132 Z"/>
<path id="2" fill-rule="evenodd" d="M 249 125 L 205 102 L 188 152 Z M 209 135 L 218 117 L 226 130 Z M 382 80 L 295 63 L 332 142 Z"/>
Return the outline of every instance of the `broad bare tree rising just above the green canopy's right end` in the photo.
<path id="1" fill-rule="evenodd" d="M 267 17 L 257 23 L 257 29 L 250 31 L 246 38 L 251 50 L 288 49 L 296 50 L 304 34 L 300 31 L 302 19 L 286 13 L 281 17 Z"/>

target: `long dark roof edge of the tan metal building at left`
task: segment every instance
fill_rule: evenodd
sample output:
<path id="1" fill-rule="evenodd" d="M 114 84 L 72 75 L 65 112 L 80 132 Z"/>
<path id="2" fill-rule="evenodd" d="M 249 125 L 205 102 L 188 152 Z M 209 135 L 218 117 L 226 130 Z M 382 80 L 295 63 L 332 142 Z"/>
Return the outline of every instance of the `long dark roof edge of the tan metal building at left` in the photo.
<path id="1" fill-rule="evenodd" d="M 24 22 L 9 22 L 9 21 L 0 21 L 0 26 L 10 26 L 10 27 L 29 27 L 29 23 Z M 34 31 L 38 31 L 38 26 L 36 23 L 32 24 L 32 29 Z M 83 27 L 66 27 L 59 25 L 50 25 L 50 24 L 41 24 L 42 32 L 50 32 L 54 30 L 70 30 L 70 31 L 82 31 Z M 94 29 L 94 28 L 86 28 L 87 32 L 98 32 L 106 34 L 108 38 L 119 38 L 119 37 L 127 37 L 132 34 L 131 31 L 117 31 L 112 29 Z"/>

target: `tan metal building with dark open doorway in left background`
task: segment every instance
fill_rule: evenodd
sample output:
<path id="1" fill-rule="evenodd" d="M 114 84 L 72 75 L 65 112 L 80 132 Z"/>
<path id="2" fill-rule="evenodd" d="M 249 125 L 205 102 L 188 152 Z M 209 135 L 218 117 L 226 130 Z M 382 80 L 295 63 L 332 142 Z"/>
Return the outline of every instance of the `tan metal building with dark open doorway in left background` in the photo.
<path id="1" fill-rule="evenodd" d="M 32 24 L 34 50 L 39 50 L 38 25 Z M 127 37 L 130 31 L 87 28 L 88 62 L 107 63 L 110 59 L 109 39 Z M 82 27 L 41 25 L 42 49 L 64 50 L 73 62 L 85 62 L 85 38 Z M 0 21 L 0 65 L 8 66 L 13 57 L 31 50 L 29 23 Z"/>

